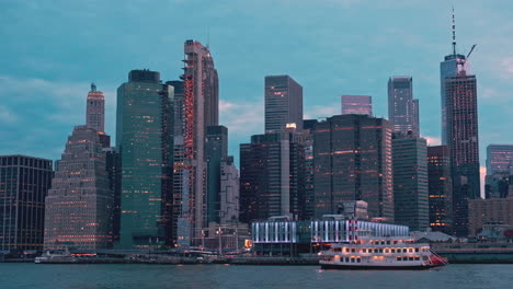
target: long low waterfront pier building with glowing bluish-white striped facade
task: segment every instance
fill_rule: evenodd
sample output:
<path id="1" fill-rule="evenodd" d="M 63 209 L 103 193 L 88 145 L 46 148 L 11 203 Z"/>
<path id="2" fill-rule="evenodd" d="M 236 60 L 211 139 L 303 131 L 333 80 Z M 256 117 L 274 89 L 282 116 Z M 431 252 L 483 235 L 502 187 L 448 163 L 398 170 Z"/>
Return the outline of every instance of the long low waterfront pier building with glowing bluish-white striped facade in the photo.
<path id="1" fill-rule="evenodd" d="M 273 218 L 251 224 L 253 252 L 258 255 L 297 256 L 362 236 L 406 235 L 409 235 L 406 226 L 345 219 L 341 215 L 327 215 L 312 221 Z"/>

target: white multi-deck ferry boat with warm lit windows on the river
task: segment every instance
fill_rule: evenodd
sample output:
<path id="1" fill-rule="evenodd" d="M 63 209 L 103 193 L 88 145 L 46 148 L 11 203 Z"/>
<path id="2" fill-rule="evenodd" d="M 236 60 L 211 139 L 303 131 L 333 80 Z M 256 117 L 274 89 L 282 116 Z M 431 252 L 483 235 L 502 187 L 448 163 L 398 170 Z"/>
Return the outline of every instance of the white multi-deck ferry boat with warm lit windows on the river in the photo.
<path id="1" fill-rule="evenodd" d="M 426 243 L 409 238 L 379 238 L 332 244 L 319 253 L 322 269 L 410 269 L 421 270 L 447 264 Z"/>

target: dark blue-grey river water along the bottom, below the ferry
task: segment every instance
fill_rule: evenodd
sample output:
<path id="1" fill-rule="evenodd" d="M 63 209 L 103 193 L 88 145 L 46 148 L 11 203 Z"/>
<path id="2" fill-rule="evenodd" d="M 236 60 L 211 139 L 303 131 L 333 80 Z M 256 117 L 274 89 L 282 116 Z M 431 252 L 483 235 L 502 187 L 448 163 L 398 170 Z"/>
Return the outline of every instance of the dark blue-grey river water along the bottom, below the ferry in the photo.
<path id="1" fill-rule="evenodd" d="M 513 288 L 513 265 L 425 271 L 321 270 L 318 266 L 35 265 L 0 263 L 0 288 Z"/>

